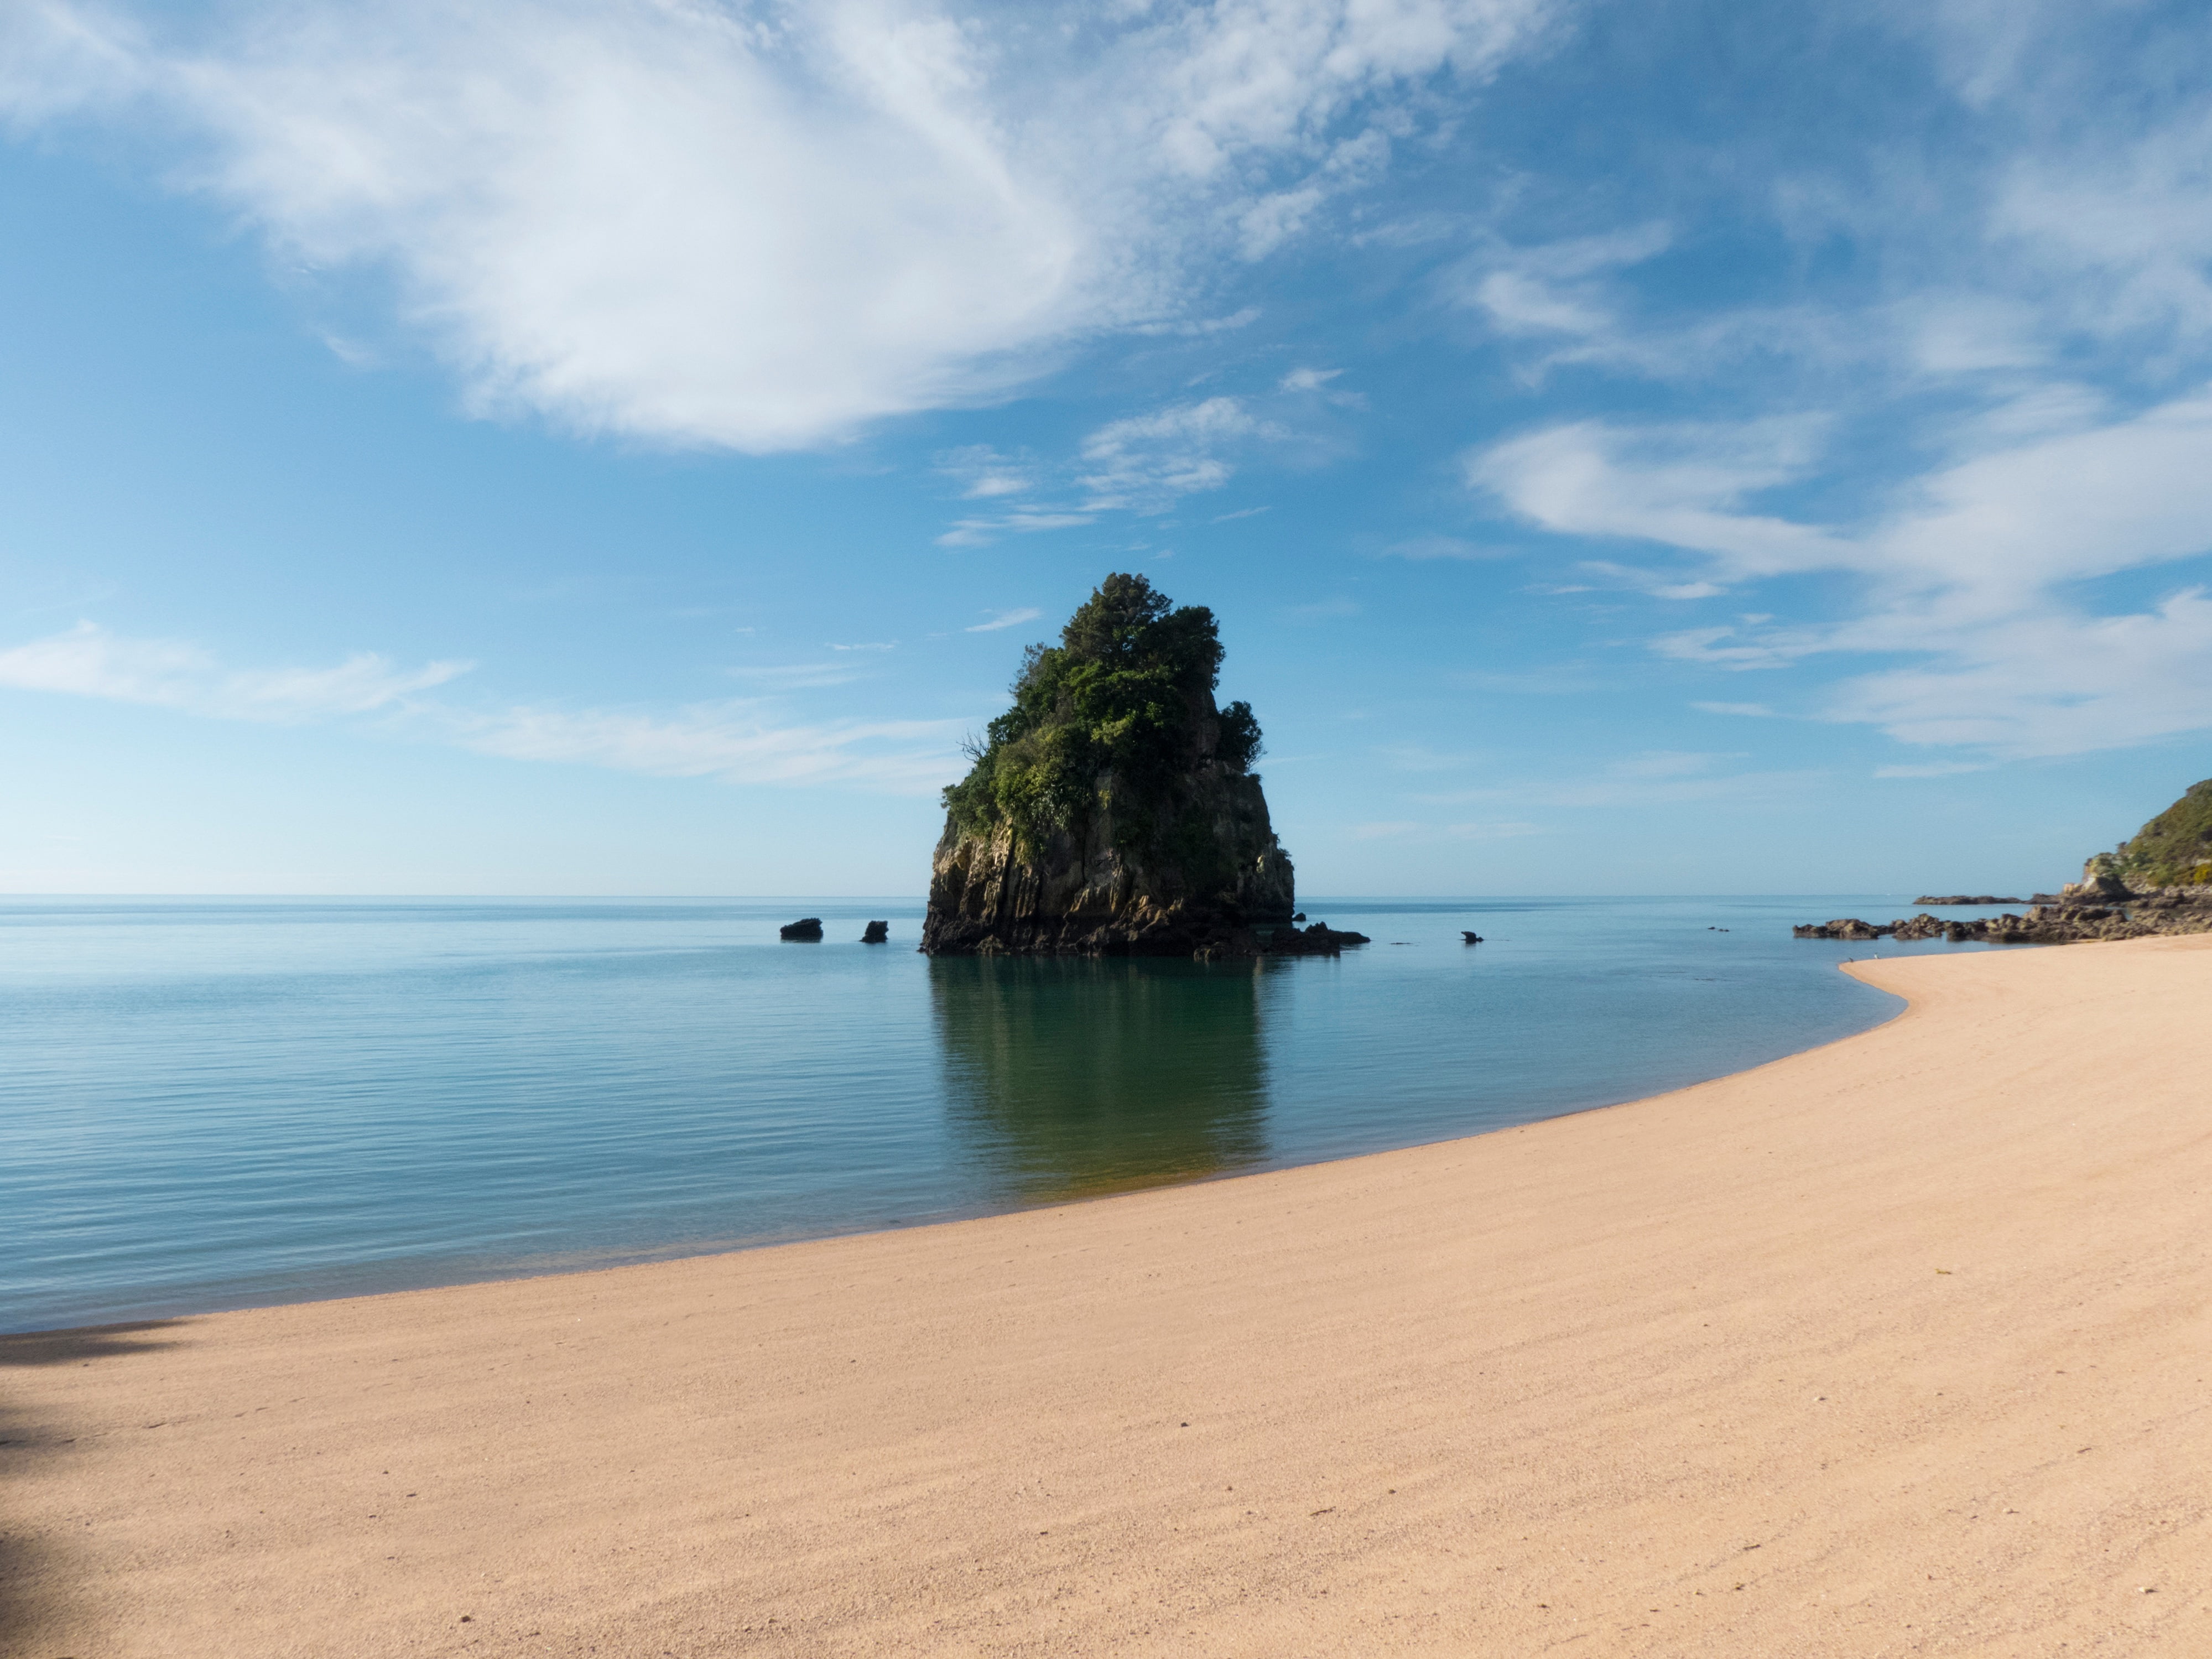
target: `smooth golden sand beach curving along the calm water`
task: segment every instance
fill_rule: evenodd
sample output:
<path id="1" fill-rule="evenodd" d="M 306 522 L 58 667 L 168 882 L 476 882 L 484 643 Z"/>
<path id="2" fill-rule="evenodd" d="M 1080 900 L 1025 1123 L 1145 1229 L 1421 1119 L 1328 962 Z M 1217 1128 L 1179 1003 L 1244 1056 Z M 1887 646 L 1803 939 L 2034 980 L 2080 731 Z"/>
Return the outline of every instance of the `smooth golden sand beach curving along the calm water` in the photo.
<path id="1" fill-rule="evenodd" d="M 2212 1652 L 2212 938 L 1601 1113 L 0 1338 L 0 1646 Z"/>

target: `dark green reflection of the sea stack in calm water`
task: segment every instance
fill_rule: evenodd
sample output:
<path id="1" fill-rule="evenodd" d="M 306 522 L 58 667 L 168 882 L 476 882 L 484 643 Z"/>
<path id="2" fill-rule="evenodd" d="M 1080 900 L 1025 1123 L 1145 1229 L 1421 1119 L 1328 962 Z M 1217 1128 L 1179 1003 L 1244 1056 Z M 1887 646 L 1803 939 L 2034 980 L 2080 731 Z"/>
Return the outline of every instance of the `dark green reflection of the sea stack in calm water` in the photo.
<path id="1" fill-rule="evenodd" d="M 938 958 L 953 1133 L 1026 1201 L 1265 1157 L 1259 964 Z"/>

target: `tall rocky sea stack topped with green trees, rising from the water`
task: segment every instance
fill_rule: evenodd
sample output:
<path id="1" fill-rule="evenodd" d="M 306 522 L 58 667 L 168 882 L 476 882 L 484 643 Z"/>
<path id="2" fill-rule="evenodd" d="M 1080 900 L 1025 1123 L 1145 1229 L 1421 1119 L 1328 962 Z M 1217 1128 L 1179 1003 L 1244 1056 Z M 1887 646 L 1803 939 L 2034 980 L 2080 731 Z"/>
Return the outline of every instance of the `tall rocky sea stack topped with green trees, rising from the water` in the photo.
<path id="1" fill-rule="evenodd" d="M 1250 703 L 1214 706 L 1212 611 L 1108 575 L 1031 646 L 945 790 L 931 956 L 1256 956 L 1301 947 Z"/>

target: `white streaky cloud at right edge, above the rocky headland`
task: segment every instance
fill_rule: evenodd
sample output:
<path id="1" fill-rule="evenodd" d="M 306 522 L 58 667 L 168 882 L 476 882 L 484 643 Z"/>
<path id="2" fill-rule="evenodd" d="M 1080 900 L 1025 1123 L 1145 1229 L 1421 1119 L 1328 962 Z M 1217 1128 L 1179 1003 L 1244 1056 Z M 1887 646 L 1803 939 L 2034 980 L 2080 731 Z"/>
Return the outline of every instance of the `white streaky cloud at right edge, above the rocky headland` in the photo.
<path id="1" fill-rule="evenodd" d="M 2148 613 L 2095 615 L 2070 593 L 2212 551 L 2212 396 L 1993 447 L 1896 491 L 1887 513 L 1851 531 L 1750 504 L 1812 462 L 1772 431 L 1579 422 L 1482 451 L 1469 478 L 1544 529 L 1674 546 L 1728 582 L 1860 577 L 1867 604 L 1838 622 L 1741 622 L 1657 641 L 1723 668 L 1836 653 L 1922 659 L 1847 681 L 1832 719 L 2002 754 L 2212 728 L 2212 604 L 2192 588 Z"/>

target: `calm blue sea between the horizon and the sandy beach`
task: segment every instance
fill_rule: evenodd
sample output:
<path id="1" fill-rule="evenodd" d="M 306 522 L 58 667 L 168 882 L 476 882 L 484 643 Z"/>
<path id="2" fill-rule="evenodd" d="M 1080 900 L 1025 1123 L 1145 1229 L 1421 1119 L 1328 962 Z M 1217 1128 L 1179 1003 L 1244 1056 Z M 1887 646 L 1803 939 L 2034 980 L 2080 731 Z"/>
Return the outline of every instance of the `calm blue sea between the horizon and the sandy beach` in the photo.
<path id="1" fill-rule="evenodd" d="M 7 900 L 0 1329 L 1471 1135 L 1863 1031 L 1900 1004 L 1840 960 L 1953 949 L 1790 938 L 1893 896 L 1303 902 L 1376 942 L 931 962 L 911 900 Z"/>

